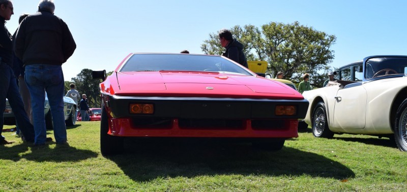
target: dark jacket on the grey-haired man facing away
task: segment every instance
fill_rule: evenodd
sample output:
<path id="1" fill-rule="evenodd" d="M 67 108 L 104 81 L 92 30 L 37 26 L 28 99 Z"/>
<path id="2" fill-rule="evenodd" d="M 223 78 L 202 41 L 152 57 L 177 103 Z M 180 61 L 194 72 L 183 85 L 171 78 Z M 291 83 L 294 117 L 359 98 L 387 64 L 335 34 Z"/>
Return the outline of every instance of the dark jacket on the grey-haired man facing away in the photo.
<path id="1" fill-rule="evenodd" d="M 16 35 L 15 52 L 25 65 L 61 65 L 75 49 L 75 41 L 66 23 L 47 11 L 25 18 Z"/>

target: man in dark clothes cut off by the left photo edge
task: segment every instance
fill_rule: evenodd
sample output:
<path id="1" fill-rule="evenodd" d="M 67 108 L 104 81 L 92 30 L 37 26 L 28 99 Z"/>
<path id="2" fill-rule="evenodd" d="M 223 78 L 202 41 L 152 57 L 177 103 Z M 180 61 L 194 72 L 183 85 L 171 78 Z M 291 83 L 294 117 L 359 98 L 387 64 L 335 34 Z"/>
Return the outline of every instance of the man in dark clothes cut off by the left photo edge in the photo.
<path id="1" fill-rule="evenodd" d="M 13 10 L 13 4 L 10 0 L 0 0 L 0 22 L 2 23 L 2 26 L 0 26 L 0 145 L 13 143 L 6 141 L 1 135 L 4 125 L 3 111 L 6 109 L 6 98 L 9 99 L 16 121 L 20 126 L 20 131 L 24 135 L 22 139 L 34 142 L 34 128 L 30 124 L 27 113 L 24 110 L 21 95 L 17 87 L 17 80 L 12 69 L 12 35 L 5 26 L 6 21 L 10 20 L 11 15 L 14 14 Z"/>

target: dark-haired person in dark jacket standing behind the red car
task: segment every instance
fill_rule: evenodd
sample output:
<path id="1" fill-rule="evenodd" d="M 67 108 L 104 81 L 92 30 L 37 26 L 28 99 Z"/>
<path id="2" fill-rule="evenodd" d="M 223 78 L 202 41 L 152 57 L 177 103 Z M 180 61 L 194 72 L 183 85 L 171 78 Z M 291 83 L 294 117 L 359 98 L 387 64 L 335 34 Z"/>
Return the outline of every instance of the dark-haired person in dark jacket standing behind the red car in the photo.
<path id="1" fill-rule="evenodd" d="M 248 68 L 246 56 L 243 53 L 243 45 L 234 39 L 232 33 L 227 29 L 221 29 L 219 31 L 219 41 L 222 47 L 226 48 L 226 51 L 222 54 L 231 60 L 241 64 Z"/>

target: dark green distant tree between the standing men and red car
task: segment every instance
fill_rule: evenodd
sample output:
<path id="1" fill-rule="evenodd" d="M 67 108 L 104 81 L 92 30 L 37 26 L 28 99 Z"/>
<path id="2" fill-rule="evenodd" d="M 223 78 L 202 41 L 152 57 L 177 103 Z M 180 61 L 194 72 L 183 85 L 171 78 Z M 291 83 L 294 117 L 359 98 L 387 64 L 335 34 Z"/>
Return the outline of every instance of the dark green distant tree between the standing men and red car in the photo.
<path id="1" fill-rule="evenodd" d="M 82 69 L 76 78 L 72 78 L 76 90 L 80 94 L 86 94 L 88 98 L 89 107 L 101 107 L 102 100 L 100 98 L 99 84 L 101 80 L 94 80 L 92 78 L 91 69 Z"/>

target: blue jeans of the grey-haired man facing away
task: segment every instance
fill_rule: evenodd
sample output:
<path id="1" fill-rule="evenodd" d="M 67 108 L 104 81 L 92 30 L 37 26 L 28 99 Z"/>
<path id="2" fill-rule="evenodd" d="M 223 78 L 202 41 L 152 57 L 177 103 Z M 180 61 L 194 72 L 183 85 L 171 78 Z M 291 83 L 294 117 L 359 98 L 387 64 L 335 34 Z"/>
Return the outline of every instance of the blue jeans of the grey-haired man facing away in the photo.
<path id="1" fill-rule="evenodd" d="M 45 144 L 44 102 L 45 92 L 52 114 L 52 123 L 56 143 L 67 141 L 67 130 L 64 117 L 64 74 L 60 65 L 32 64 L 25 66 L 25 83 L 31 94 L 33 109 L 35 142 Z"/>

